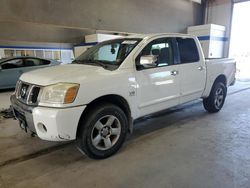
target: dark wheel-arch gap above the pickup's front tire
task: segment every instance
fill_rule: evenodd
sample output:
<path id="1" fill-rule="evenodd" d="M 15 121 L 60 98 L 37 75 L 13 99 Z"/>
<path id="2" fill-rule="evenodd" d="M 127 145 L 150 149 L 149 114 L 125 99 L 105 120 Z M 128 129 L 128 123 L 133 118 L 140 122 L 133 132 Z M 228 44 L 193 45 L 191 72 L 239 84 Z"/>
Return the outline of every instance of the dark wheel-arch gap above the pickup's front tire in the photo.
<path id="1" fill-rule="evenodd" d="M 84 118 L 86 117 L 86 115 L 88 114 L 88 112 L 97 107 L 98 105 L 100 105 L 101 103 L 111 103 L 111 104 L 114 104 L 114 105 L 117 105 L 119 108 L 121 108 L 125 115 L 127 116 L 128 118 L 128 122 L 129 122 L 129 132 L 132 132 L 133 130 L 133 118 L 131 116 L 131 109 L 129 107 L 129 103 L 127 102 L 127 100 L 120 96 L 120 95 L 115 95 L 115 94 L 110 94 L 110 95 L 104 95 L 104 96 L 101 96 L 101 97 L 98 97 L 96 99 L 94 99 L 93 101 L 91 101 L 87 107 L 84 109 L 84 111 L 82 112 L 82 115 L 81 115 L 81 118 L 79 120 L 79 123 L 78 123 L 78 127 L 77 127 L 77 136 L 78 136 L 78 133 L 80 132 L 80 122 L 81 121 L 84 121 Z"/>

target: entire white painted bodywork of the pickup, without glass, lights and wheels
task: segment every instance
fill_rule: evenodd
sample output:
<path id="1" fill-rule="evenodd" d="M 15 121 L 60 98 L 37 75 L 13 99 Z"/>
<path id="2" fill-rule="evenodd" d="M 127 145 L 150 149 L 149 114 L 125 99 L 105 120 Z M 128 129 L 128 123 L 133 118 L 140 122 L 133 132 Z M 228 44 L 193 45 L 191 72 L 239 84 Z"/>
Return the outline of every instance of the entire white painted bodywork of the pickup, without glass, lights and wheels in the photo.
<path id="1" fill-rule="evenodd" d="M 24 82 L 47 86 L 60 82 L 78 83 L 80 89 L 72 104 L 39 104 L 34 109 L 34 123 L 48 125 L 49 134 L 38 133 L 45 140 L 62 140 L 58 135 L 74 140 L 80 116 L 85 107 L 93 100 L 105 95 L 123 97 L 131 110 L 133 119 L 151 114 L 184 102 L 207 97 L 215 79 L 225 75 L 227 86 L 235 76 L 234 60 L 221 59 L 205 61 L 198 39 L 181 34 L 136 35 L 143 40 L 128 55 L 122 65 L 114 71 L 90 65 L 63 65 L 49 69 L 25 73 Z M 194 38 L 200 54 L 200 61 L 190 64 L 177 64 L 137 71 L 135 58 L 153 39 L 161 37 Z M 198 70 L 202 67 L 202 70 Z M 171 75 L 177 70 L 177 76 Z M 131 95 L 134 92 L 134 95 Z"/>

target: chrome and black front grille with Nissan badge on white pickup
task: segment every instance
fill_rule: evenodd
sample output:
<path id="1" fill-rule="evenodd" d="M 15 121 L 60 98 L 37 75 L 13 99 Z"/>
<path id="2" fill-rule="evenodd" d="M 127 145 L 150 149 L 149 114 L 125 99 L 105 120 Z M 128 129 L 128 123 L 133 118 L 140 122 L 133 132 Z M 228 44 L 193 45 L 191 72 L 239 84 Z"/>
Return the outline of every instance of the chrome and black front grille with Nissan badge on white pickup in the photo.
<path id="1" fill-rule="evenodd" d="M 38 102 L 38 96 L 40 87 L 37 85 L 18 81 L 16 86 L 16 97 L 23 103 L 36 105 Z"/>

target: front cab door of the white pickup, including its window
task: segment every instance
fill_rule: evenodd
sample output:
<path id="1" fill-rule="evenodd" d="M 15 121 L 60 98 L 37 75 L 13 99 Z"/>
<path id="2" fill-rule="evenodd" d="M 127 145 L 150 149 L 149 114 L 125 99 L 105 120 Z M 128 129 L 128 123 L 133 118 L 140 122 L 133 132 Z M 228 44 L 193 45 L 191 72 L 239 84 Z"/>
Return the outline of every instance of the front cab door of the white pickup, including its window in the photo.
<path id="1" fill-rule="evenodd" d="M 140 116 L 179 104 L 180 75 L 173 38 L 149 42 L 136 57 L 137 102 Z M 141 65 L 145 55 L 157 57 L 155 64 Z"/>

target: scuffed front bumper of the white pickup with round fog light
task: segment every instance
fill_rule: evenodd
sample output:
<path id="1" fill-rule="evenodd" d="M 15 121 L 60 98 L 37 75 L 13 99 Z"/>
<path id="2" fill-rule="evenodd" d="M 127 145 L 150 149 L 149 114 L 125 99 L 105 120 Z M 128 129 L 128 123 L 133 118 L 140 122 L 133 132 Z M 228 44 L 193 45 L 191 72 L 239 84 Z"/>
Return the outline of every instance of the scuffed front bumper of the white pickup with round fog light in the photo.
<path id="1" fill-rule="evenodd" d="M 38 137 L 49 141 L 76 139 L 78 123 L 86 106 L 71 108 L 49 108 L 29 106 L 11 96 L 15 117 Z"/>

